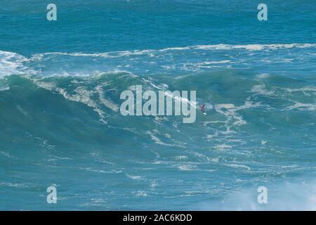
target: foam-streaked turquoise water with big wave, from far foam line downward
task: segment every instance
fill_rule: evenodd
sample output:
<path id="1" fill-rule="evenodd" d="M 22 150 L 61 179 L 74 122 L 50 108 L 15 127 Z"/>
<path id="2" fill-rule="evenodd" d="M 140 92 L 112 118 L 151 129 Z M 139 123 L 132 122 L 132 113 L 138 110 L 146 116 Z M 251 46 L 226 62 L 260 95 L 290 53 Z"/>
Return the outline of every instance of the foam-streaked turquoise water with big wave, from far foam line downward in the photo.
<path id="1" fill-rule="evenodd" d="M 315 44 L 2 52 L 0 186 L 13 195 L 1 208 L 49 209 L 37 195 L 56 184 L 63 210 L 312 210 L 315 53 Z M 121 116 L 119 95 L 136 84 L 197 90 L 208 114 L 194 124 Z M 270 205 L 256 203 L 258 186 L 270 188 Z M 38 200 L 20 202 L 29 198 Z"/>

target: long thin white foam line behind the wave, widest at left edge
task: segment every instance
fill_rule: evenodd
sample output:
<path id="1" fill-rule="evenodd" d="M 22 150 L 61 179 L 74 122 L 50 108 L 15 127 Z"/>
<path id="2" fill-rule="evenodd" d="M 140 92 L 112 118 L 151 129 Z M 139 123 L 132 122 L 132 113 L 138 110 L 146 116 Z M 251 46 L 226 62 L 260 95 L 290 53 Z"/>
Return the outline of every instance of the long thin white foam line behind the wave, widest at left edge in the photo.
<path id="1" fill-rule="evenodd" d="M 27 63 L 39 62 L 41 60 L 47 60 L 46 57 L 51 58 L 54 56 L 71 56 L 71 57 L 92 57 L 92 58 L 122 58 L 122 57 L 133 57 L 133 56 L 147 56 L 147 57 L 161 57 L 164 53 L 174 53 L 179 51 L 191 51 L 191 50 L 239 50 L 244 49 L 247 51 L 262 51 L 269 50 L 275 51 L 279 49 L 306 49 L 306 48 L 316 48 L 316 44 L 306 44 L 306 43 L 294 43 L 294 44 L 209 44 L 209 45 L 197 45 L 197 46 L 183 46 L 183 47 L 169 47 L 165 49 L 145 49 L 145 50 L 131 50 L 131 51 L 109 51 L 109 52 L 99 52 L 99 53 L 84 53 L 84 52 L 46 52 L 46 53 L 36 53 L 30 58 L 26 58 L 18 53 L 10 51 L 0 51 L 0 77 L 13 74 L 36 74 L 37 71 L 28 68 Z M 284 58 L 284 62 L 291 62 L 291 58 Z M 150 62 L 149 62 L 150 63 Z M 206 61 L 203 63 L 198 63 L 196 68 L 213 68 L 221 67 L 220 64 L 232 63 L 230 60 L 219 60 L 219 61 Z M 168 67 L 169 65 L 162 65 Z M 226 65 L 230 67 L 230 65 Z M 185 68 L 187 69 L 187 68 Z"/>

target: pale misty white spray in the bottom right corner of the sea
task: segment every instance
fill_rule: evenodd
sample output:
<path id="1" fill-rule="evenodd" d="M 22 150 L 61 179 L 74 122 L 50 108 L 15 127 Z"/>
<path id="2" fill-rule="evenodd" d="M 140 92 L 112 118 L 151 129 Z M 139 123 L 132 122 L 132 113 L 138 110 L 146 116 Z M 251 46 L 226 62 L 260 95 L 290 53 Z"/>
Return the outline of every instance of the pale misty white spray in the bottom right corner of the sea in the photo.
<path id="1" fill-rule="evenodd" d="M 257 183 L 257 182 L 256 182 Z M 268 203 L 258 203 L 258 187 L 268 188 Z M 235 190 L 221 201 L 200 203 L 199 210 L 316 210 L 316 183 L 306 181 L 285 181 L 278 184 L 260 182 L 252 188 Z"/>

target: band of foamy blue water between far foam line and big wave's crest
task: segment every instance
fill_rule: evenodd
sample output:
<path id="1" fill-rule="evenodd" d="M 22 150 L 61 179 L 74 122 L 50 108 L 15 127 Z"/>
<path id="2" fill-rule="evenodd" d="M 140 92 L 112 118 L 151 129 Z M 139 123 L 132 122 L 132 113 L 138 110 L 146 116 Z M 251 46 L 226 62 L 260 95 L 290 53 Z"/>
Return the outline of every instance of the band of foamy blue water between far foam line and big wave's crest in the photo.
<path id="1" fill-rule="evenodd" d="M 296 61 L 291 59 L 293 53 L 287 49 L 296 49 L 295 51 L 302 49 L 302 53 L 297 53 L 303 56 L 300 62 L 305 60 L 306 63 L 310 63 L 314 60 L 311 51 L 315 51 L 316 43 L 211 44 L 96 53 L 46 52 L 35 53 L 29 58 L 10 51 L 0 51 L 0 77 L 22 74 L 41 74 L 42 77 L 81 76 L 121 68 L 133 73 L 141 71 L 143 74 L 196 72 L 213 68 L 245 69 L 252 65 L 273 65 L 272 62 L 279 61 L 280 57 L 283 58 L 280 63 L 293 63 L 288 66 L 297 70 Z M 217 51 L 220 52 L 220 56 Z M 237 55 L 235 51 L 238 51 Z M 305 54 L 306 52 L 308 54 Z"/>

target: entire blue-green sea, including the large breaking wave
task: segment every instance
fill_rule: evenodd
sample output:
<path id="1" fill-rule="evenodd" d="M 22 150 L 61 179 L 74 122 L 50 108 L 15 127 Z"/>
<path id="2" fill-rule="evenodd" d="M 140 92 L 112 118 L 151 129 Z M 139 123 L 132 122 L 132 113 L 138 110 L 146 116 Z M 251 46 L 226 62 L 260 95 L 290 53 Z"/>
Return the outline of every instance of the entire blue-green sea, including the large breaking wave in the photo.
<path id="1" fill-rule="evenodd" d="M 2 0 L 0 210 L 315 210 L 316 4 L 260 3 Z M 207 115 L 124 117 L 137 84 Z"/>

